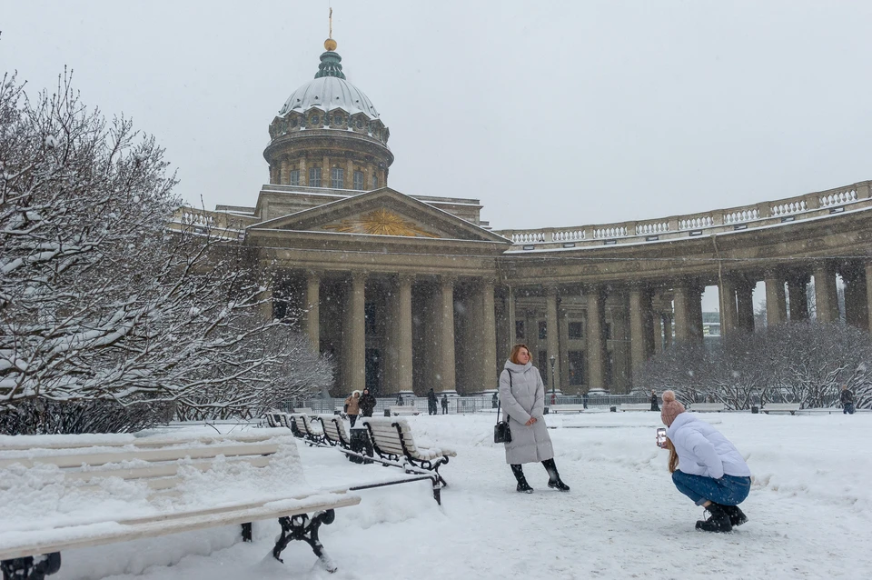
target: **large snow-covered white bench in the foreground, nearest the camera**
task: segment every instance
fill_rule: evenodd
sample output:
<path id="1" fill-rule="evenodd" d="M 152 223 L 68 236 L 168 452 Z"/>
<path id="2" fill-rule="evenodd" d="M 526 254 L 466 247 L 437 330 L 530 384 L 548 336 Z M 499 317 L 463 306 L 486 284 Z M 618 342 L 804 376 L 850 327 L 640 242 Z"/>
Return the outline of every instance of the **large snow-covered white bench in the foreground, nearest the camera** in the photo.
<path id="1" fill-rule="evenodd" d="M 54 574 L 64 550 L 215 526 L 242 525 L 243 541 L 251 541 L 252 522 L 272 518 L 282 528 L 273 557 L 282 561 L 282 550 L 302 540 L 324 567 L 335 570 L 318 530 L 333 522 L 333 510 L 361 498 L 347 489 L 306 485 L 296 445 L 286 433 L 4 437 L 4 578 Z"/>

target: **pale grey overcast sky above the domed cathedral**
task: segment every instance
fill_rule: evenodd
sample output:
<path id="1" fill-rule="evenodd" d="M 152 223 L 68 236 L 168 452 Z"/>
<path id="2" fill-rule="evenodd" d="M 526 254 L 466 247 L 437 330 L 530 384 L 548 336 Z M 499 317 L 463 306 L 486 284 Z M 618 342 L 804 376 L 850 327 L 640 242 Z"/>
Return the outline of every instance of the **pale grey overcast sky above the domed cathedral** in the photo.
<path id="1" fill-rule="evenodd" d="M 389 185 L 496 228 L 610 223 L 872 177 L 872 2 L 332 0 Z M 328 2 L 0 0 L 0 68 L 156 135 L 193 204 L 254 205 Z"/>

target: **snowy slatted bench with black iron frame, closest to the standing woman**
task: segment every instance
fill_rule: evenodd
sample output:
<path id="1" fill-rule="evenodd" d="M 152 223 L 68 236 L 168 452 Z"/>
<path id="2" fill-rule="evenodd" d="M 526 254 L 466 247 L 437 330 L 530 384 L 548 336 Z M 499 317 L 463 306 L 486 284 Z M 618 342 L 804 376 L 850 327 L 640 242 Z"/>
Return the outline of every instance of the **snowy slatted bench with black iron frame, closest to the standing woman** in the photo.
<path id="1" fill-rule="evenodd" d="M 439 468 L 448 463 L 449 457 L 457 455 L 453 449 L 415 445 L 411 427 L 405 419 L 365 417 L 363 425 L 370 432 L 372 447 L 381 459 L 405 468 L 407 473 L 421 473 L 420 470 L 431 472 L 436 475 L 438 483 L 448 485 Z M 436 489 L 433 494 L 437 495 Z"/>

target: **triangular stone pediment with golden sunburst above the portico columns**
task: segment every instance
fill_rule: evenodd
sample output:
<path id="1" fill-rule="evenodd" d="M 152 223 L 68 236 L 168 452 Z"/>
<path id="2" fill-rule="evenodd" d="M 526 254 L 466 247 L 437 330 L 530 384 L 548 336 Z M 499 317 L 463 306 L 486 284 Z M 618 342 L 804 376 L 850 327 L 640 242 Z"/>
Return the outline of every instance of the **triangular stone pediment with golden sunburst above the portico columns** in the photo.
<path id="1" fill-rule="evenodd" d="M 508 242 L 456 215 L 382 187 L 253 225 L 297 232 Z"/>

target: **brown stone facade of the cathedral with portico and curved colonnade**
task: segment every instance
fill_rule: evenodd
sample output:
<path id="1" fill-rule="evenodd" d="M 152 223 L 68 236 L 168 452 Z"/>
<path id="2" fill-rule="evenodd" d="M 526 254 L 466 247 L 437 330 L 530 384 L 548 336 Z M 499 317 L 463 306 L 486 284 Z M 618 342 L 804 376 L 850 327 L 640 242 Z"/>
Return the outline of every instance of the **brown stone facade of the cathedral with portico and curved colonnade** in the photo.
<path id="1" fill-rule="evenodd" d="M 627 392 L 651 355 L 702 341 L 707 286 L 718 287 L 727 341 L 754 330 L 759 281 L 769 325 L 808 318 L 812 279 L 817 320 L 836 321 L 840 275 L 847 324 L 870 327 L 870 182 L 704 214 L 491 231 L 478 200 L 387 187 L 389 132 L 367 103 L 369 116 L 291 107 L 270 126 L 270 183 L 256 205 L 180 211 L 249 246 L 253 267 L 276 269 L 264 315 L 294 320 L 332 355 L 333 395 L 490 391 L 516 342 L 549 388 Z M 321 187 L 307 181 L 313 167 Z M 334 168 L 341 184 L 324 181 Z"/>

